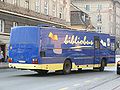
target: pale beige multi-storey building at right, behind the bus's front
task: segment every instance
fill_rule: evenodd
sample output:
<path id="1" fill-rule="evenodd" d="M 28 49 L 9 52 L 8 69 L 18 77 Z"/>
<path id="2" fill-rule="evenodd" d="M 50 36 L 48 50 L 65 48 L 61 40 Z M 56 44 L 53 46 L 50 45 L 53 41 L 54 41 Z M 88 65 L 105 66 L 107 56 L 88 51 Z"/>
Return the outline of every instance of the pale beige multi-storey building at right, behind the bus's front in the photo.
<path id="1" fill-rule="evenodd" d="M 75 6 L 89 14 L 96 32 L 116 36 L 120 41 L 120 1 L 119 0 L 71 0 Z"/>

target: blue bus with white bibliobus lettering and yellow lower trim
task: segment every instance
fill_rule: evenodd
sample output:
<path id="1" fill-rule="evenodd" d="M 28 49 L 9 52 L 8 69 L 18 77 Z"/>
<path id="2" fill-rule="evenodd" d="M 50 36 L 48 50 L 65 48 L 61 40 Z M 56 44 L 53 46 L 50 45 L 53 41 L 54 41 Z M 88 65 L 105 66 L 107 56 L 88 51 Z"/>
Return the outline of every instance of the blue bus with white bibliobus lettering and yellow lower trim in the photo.
<path id="1" fill-rule="evenodd" d="M 47 73 L 115 64 L 115 37 L 53 27 L 18 26 L 11 30 L 9 67 Z"/>

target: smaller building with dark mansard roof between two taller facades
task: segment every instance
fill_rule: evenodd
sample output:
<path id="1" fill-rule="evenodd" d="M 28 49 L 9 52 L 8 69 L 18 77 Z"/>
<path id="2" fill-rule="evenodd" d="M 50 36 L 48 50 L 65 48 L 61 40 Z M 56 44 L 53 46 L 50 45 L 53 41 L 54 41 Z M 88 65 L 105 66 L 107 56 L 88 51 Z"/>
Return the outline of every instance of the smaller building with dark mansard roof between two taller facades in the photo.
<path id="1" fill-rule="evenodd" d="M 87 13 L 77 8 L 72 3 L 70 6 L 70 11 L 70 22 L 72 29 L 94 31 L 94 27 Z"/>

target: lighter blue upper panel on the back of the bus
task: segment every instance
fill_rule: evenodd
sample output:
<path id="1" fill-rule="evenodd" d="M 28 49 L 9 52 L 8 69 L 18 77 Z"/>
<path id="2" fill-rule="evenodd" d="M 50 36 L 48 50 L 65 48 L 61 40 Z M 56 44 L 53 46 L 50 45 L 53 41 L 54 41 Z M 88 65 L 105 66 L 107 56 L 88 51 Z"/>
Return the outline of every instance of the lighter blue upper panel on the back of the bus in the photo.
<path id="1" fill-rule="evenodd" d="M 37 43 L 38 30 L 36 28 L 13 28 L 10 36 L 11 44 Z"/>

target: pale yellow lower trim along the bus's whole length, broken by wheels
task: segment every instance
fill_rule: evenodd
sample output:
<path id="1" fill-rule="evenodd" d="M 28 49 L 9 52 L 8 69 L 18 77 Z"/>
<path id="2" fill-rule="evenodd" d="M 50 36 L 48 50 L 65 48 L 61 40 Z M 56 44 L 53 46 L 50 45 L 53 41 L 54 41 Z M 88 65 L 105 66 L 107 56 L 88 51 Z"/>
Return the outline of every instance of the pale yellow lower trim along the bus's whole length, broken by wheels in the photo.
<path id="1" fill-rule="evenodd" d="M 107 66 L 115 66 L 115 63 L 107 64 Z M 55 64 L 21 64 L 21 63 L 9 63 L 10 68 L 16 69 L 26 69 L 26 70 L 63 70 L 63 63 L 55 63 Z M 94 68 L 100 67 L 100 64 L 94 65 L 75 65 L 72 63 L 72 69 L 78 68 Z"/>

